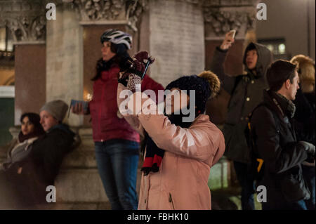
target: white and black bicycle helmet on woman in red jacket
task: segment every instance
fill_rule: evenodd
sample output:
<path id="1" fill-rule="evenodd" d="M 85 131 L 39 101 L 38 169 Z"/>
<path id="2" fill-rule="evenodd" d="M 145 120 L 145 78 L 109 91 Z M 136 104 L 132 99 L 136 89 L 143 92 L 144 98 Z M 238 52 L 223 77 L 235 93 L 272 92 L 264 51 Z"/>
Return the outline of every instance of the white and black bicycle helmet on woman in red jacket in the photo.
<path id="1" fill-rule="evenodd" d="M 110 41 L 113 44 L 124 44 L 126 48 L 131 49 L 132 37 L 117 29 L 107 29 L 101 35 L 101 43 Z"/>

